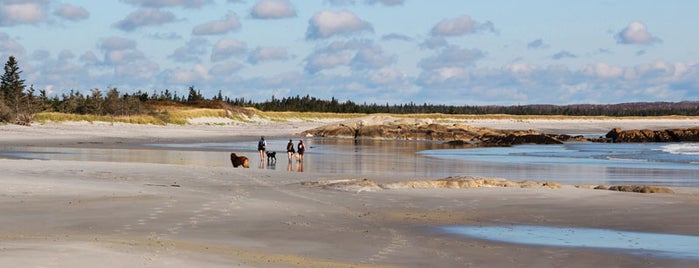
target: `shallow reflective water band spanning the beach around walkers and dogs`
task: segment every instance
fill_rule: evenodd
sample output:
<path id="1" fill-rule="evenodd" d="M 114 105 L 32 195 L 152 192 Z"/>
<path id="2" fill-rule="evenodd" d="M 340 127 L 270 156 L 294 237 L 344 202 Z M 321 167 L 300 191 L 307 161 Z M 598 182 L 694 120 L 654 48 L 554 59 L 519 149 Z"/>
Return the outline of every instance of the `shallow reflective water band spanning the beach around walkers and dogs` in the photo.
<path id="1" fill-rule="evenodd" d="M 276 164 L 259 162 L 256 140 L 147 144 L 141 149 L 3 147 L 0 157 L 230 166 L 229 154 L 236 152 L 250 158 L 251 168 L 270 172 L 409 179 L 472 175 L 563 183 L 699 186 L 698 143 L 569 143 L 452 149 L 431 142 L 305 139 L 308 151 L 303 165 L 298 166 L 287 161 L 287 142 L 288 139 L 268 140 L 270 150 L 277 151 Z"/>

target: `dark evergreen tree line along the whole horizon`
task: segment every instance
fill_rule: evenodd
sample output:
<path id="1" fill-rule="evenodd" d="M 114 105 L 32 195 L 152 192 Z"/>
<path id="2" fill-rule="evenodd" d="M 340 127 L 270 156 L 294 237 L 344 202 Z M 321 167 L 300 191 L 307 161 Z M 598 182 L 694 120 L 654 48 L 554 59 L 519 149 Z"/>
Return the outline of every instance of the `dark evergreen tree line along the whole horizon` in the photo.
<path id="1" fill-rule="evenodd" d="M 618 104 L 573 104 L 573 105 L 439 105 L 439 104 L 377 104 L 355 103 L 306 96 L 292 96 L 255 102 L 244 98 L 231 99 L 221 91 L 209 98 L 190 86 L 187 95 L 178 95 L 169 89 L 160 92 L 137 90 L 131 93 L 117 88 L 106 91 L 91 89 L 85 94 L 71 90 L 60 96 L 49 96 L 44 89 L 27 87 L 21 79 L 16 59 L 9 57 L 4 67 L 0 84 L 0 122 L 28 124 L 35 114 L 59 112 L 67 114 L 92 114 L 109 116 L 132 116 L 157 113 L 164 106 L 193 108 L 223 108 L 230 106 L 254 107 L 262 111 L 296 111 L 327 113 L 389 113 L 389 114 L 511 114 L 511 115 L 568 115 L 568 116 L 697 116 L 699 101 L 683 102 L 634 102 Z"/>

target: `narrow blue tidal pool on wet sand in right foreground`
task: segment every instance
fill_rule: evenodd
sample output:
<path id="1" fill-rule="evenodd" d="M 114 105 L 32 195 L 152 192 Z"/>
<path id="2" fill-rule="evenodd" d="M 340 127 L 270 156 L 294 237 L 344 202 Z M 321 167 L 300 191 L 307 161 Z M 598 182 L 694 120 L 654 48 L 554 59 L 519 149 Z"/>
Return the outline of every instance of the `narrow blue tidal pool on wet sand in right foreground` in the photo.
<path id="1" fill-rule="evenodd" d="M 552 247 L 615 249 L 628 254 L 699 259 L 699 236 L 531 225 L 444 226 L 444 232 L 478 239 Z"/>

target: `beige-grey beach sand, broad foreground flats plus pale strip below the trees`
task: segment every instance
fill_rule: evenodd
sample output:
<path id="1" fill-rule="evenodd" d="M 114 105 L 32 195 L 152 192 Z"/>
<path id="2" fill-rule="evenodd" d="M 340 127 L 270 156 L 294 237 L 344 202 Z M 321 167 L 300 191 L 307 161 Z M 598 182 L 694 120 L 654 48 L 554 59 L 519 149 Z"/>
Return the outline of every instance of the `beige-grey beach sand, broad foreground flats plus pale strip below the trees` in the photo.
<path id="1" fill-rule="evenodd" d="M 2 145 L 137 146 L 289 135 L 325 122 L 0 126 Z M 473 125 L 523 128 L 517 122 Z M 521 122 L 520 122 L 521 123 Z M 526 129 L 691 127 L 697 120 L 527 122 Z M 564 130 L 565 129 L 565 130 Z M 605 131 L 603 131 L 605 132 Z M 544 225 L 699 236 L 699 190 L 338 191 L 350 175 L 147 163 L 0 159 L 0 267 L 697 267 L 697 259 L 523 246 L 441 225 Z M 274 175 L 274 176 L 272 176 Z M 410 178 L 395 178 L 395 181 Z"/>

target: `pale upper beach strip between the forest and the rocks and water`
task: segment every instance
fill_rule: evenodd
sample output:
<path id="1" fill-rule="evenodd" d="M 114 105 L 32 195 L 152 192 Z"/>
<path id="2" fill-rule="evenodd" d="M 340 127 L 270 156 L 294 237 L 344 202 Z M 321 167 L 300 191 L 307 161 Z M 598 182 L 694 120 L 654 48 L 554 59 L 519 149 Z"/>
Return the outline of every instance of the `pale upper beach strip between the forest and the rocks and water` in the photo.
<path id="1" fill-rule="evenodd" d="M 258 139 L 259 136 L 296 137 L 304 130 L 320 127 L 331 123 L 370 122 L 381 124 L 389 120 L 400 119 L 390 116 L 366 116 L 356 119 L 324 119 L 293 122 L 258 122 L 231 123 L 218 125 L 216 119 L 193 120 L 190 125 L 138 125 L 109 122 L 62 122 L 43 123 L 32 126 L 0 125 L 0 145 L 27 143 L 52 144 L 82 141 L 134 144 L 192 141 L 225 141 L 247 138 Z M 466 124 L 474 127 L 487 127 L 497 130 L 536 130 L 547 134 L 606 134 L 614 128 L 631 129 L 671 129 L 699 127 L 699 117 L 690 118 L 594 118 L 577 119 L 415 119 L 417 121 L 435 122 L 439 124 Z"/>

